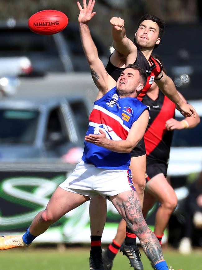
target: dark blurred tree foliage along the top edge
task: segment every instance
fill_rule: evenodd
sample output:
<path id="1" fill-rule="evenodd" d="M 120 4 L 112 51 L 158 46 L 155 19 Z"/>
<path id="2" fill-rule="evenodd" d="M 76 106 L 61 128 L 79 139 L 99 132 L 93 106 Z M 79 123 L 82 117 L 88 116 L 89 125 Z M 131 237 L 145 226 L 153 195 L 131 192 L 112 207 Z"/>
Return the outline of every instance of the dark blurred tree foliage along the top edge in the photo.
<path id="1" fill-rule="evenodd" d="M 80 1 L 82 2 L 82 1 Z M 155 14 L 166 22 L 195 22 L 199 20 L 199 0 L 96 0 L 94 10 L 97 12 L 89 26 L 103 39 L 111 44 L 111 17 L 125 19 L 127 36 L 133 38 L 137 22 L 145 13 Z M 76 0 L 1 0 L 0 20 L 14 17 L 27 20 L 32 14 L 44 9 L 56 9 L 64 12 L 70 22 L 77 23 L 78 8 Z M 68 26 L 67 26 L 68 27 Z"/>

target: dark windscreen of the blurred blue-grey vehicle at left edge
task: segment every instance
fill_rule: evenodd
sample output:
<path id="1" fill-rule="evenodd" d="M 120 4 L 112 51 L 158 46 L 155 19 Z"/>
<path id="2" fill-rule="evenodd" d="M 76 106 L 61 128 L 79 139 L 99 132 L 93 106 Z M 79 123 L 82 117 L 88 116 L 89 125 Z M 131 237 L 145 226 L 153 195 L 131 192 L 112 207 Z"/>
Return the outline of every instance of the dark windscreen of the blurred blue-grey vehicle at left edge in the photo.
<path id="1" fill-rule="evenodd" d="M 38 111 L 0 110 L 0 143 L 32 144 L 35 139 Z"/>

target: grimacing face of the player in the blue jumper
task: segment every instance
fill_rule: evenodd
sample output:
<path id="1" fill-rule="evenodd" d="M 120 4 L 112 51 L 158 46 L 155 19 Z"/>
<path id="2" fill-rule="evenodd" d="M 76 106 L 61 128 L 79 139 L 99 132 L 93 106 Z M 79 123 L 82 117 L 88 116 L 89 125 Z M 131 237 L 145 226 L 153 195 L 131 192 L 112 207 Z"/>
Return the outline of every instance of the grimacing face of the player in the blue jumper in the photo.
<path id="1" fill-rule="evenodd" d="M 139 71 L 135 69 L 124 69 L 117 80 L 117 92 L 120 97 L 137 97 L 142 88 Z"/>

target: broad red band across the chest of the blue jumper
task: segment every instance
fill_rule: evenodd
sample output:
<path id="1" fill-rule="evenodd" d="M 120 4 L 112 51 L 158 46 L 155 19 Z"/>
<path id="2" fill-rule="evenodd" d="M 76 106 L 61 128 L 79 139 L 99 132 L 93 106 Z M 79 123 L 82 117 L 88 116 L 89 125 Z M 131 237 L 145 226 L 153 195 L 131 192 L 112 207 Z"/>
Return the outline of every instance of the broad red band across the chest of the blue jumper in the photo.
<path id="1" fill-rule="evenodd" d="M 121 118 L 120 118 L 121 120 Z M 127 135 L 128 135 L 128 131 L 125 130 L 121 124 L 119 123 L 119 121 L 117 121 L 116 119 L 114 119 L 111 116 L 108 116 L 107 114 L 105 114 L 102 111 L 99 111 L 97 109 L 93 109 L 93 111 L 91 112 L 90 116 L 89 116 L 89 121 L 90 122 L 94 122 L 94 123 L 98 123 L 98 124 L 105 124 L 105 125 L 109 125 L 112 130 L 120 137 L 122 138 L 122 140 L 126 140 Z M 110 131 L 110 130 L 109 130 Z"/>

